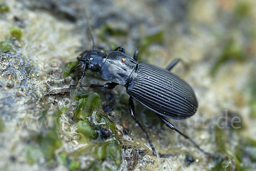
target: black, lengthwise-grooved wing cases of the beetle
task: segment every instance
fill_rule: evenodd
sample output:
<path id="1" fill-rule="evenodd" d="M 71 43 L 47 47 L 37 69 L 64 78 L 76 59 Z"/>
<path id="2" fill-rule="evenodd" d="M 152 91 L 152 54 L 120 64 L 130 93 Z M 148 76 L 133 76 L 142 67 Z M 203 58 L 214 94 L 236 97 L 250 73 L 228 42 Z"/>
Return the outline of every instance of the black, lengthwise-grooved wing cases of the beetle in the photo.
<path id="1" fill-rule="evenodd" d="M 127 92 L 145 107 L 175 120 L 191 117 L 198 108 L 195 93 L 185 81 L 148 63 L 138 63 Z"/>

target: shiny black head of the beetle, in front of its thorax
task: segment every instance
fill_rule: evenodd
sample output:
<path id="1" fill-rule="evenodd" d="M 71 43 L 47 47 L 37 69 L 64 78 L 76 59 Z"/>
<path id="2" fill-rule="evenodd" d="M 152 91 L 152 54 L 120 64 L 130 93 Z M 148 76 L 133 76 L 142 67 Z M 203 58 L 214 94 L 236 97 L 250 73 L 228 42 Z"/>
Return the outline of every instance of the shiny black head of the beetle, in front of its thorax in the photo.
<path id="1" fill-rule="evenodd" d="M 87 69 L 99 72 L 101 66 L 107 59 L 107 54 L 103 50 L 84 51 L 77 57 L 77 60 L 86 65 Z"/>

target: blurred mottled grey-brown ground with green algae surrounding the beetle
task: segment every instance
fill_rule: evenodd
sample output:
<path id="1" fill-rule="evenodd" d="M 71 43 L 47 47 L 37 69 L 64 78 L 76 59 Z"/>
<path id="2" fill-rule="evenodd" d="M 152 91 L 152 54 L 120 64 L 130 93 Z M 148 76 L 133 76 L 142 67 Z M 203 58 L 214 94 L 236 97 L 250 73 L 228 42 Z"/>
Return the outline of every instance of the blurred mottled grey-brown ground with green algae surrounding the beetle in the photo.
<path id="1" fill-rule="evenodd" d="M 255 170 L 256 1 L 0 0 L 0 170 Z M 81 51 L 124 46 L 195 91 L 197 113 L 169 120 L 207 157 L 118 85 L 71 89 Z M 74 62 L 72 62 L 74 61 Z M 72 62 L 72 63 L 70 63 Z M 67 63 L 69 63 L 67 65 Z M 84 84 L 105 84 L 86 71 Z M 75 114 L 74 120 L 72 119 Z"/>

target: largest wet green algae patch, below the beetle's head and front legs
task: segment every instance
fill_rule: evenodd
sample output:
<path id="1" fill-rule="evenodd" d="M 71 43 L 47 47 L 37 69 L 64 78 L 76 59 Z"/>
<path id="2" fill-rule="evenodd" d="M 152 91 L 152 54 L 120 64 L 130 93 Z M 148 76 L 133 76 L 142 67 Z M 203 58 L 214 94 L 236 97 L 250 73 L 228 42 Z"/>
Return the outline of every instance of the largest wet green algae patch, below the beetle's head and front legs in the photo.
<path id="1" fill-rule="evenodd" d="M 101 106 L 99 94 L 88 94 L 87 98 L 80 98 L 76 107 L 76 118 L 79 117 L 77 129 L 79 134 L 82 134 L 80 142 L 84 142 L 84 138 L 93 141 L 93 145 L 87 145 L 84 148 L 72 152 L 68 155 L 74 160 L 78 160 L 81 155 L 92 154 L 95 160 L 88 165 L 87 170 L 111 170 L 102 165 L 102 162 L 107 160 L 115 164 L 118 168 L 121 164 L 121 147 L 119 137 L 116 135 L 115 124 L 108 117 L 100 114 L 96 110 Z M 74 117 L 75 118 L 75 117 Z M 89 118 L 89 119 L 87 119 Z M 77 118 L 78 119 L 78 118 Z M 80 120 L 82 119 L 82 120 Z M 108 140 L 103 140 L 98 136 L 99 127 L 110 130 L 112 134 Z M 86 141 L 88 142 L 88 141 Z M 62 156 L 65 161 L 66 157 Z M 63 163 L 63 162 L 62 162 Z"/>

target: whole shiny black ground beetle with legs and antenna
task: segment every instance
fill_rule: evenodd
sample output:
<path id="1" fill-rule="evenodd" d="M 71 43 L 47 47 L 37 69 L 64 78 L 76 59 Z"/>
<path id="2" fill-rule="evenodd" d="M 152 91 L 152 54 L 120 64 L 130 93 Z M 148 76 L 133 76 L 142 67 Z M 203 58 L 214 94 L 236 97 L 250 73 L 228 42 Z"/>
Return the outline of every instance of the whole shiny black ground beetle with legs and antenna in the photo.
<path id="1" fill-rule="evenodd" d="M 87 23 L 89 23 L 88 20 Z M 127 93 L 130 95 L 128 105 L 131 117 L 145 132 L 154 155 L 156 152 L 148 136 L 148 132 L 135 117 L 133 99 L 151 111 L 154 111 L 167 127 L 177 131 L 188 139 L 204 154 L 211 156 L 211 154 L 201 149 L 188 136 L 177 130 L 165 118 L 184 120 L 195 114 L 198 108 L 198 102 L 193 89 L 176 74 L 170 72 L 179 62 L 179 59 L 173 60 L 166 69 L 163 69 L 148 63 L 137 62 L 138 51 L 136 50 L 134 57 L 131 58 L 125 54 L 123 46 L 107 54 L 103 50 L 95 49 L 92 31 L 89 24 L 88 26 L 93 41 L 93 50 L 84 51 L 77 57 L 77 60 L 84 65 L 83 74 L 77 86 L 90 88 L 103 87 L 108 89 L 115 88 L 119 84 L 125 86 Z M 110 81 L 110 83 L 106 83 L 105 85 L 80 85 L 86 69 L 97 72 L 99 77 Z"/>

